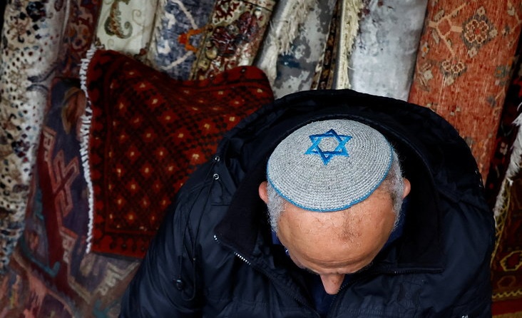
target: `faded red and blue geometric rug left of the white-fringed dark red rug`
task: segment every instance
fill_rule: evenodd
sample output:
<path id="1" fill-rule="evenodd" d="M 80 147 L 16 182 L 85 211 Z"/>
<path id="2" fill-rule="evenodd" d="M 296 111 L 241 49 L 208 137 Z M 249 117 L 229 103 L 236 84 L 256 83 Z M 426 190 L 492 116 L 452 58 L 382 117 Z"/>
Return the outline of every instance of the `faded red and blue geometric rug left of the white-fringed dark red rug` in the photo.
<path id="1" fill-rule="evenodd" d="M 55 78 L 49 103 L 25 230 L 0 276 L 0 317 L 117 317 L 139 262 L 86 253 L 78 79 Z"/>

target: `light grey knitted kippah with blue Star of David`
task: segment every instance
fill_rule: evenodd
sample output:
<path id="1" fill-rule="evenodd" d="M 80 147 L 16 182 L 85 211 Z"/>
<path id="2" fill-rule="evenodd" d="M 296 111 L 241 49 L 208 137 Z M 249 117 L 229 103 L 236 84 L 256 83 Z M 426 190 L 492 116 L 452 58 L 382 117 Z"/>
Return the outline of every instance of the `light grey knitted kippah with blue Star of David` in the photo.
<path id="1" fill-rule="evenodd" d="M 267 180 L 305 210 L 344 210 L 361 202 L 386 178 L 393 149 L 384 135 L 354 120 L 323 120 L 295 130 L 277 145 Z"/>

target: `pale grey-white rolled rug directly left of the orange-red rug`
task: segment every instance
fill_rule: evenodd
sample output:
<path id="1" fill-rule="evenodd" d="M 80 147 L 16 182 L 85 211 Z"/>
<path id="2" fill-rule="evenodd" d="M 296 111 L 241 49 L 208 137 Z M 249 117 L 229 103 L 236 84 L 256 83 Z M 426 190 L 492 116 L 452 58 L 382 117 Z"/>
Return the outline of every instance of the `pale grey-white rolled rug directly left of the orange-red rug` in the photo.
<path id="1" fill-rule="evenodd" d="M 346 70 L 354 91 L 408 99 L 427 2 L 365 1 Z"/>

